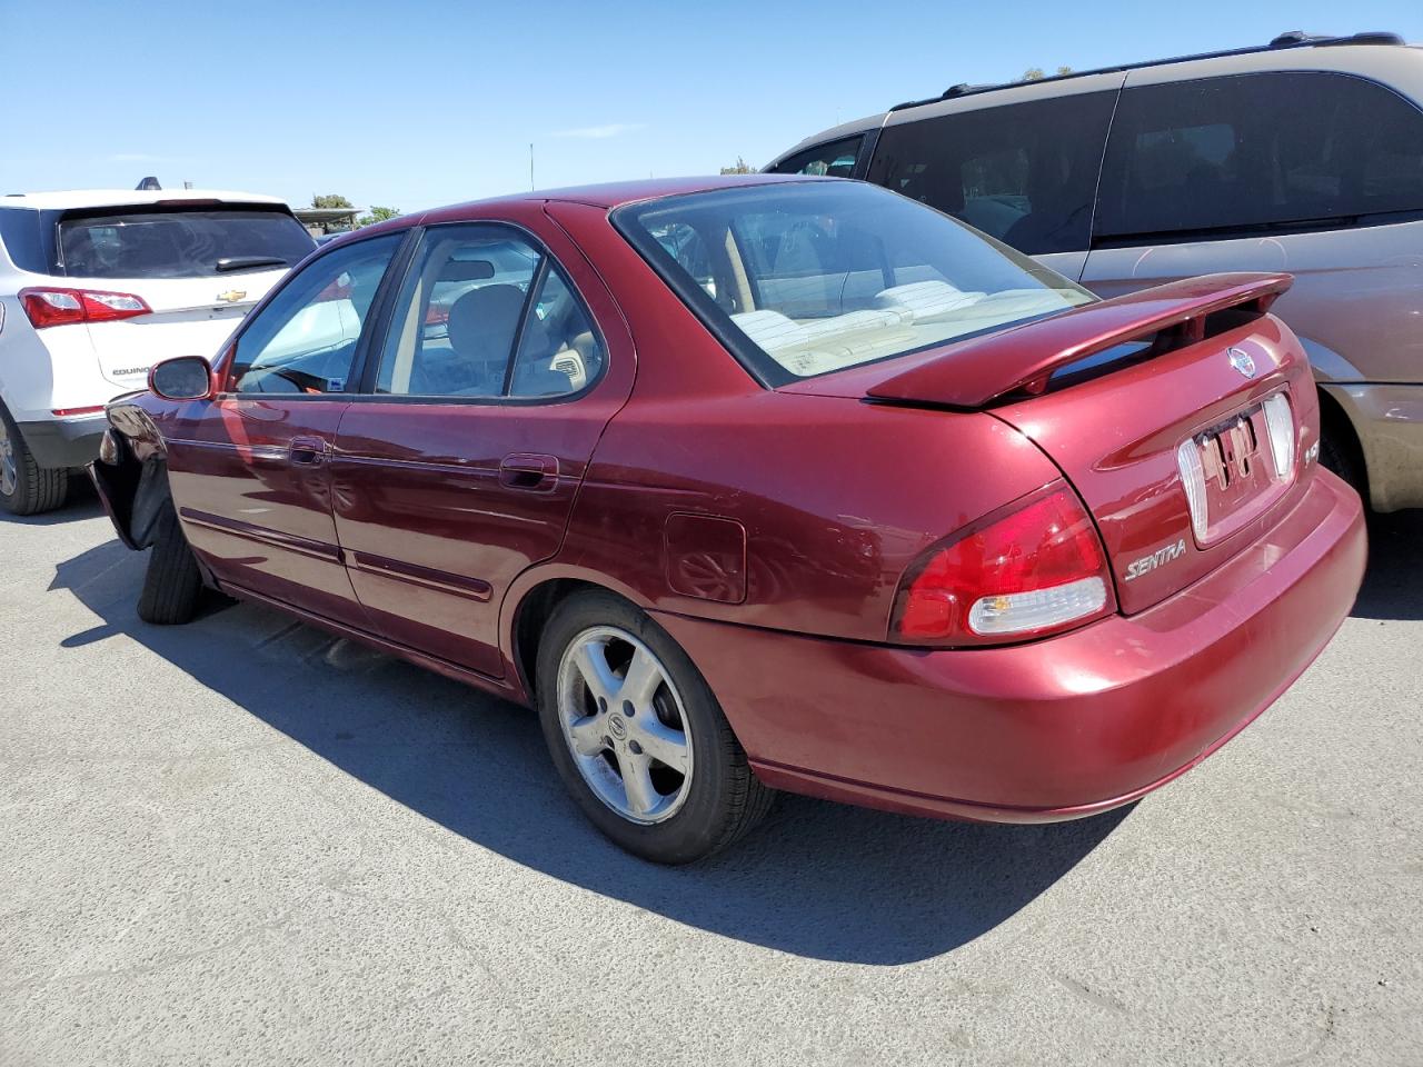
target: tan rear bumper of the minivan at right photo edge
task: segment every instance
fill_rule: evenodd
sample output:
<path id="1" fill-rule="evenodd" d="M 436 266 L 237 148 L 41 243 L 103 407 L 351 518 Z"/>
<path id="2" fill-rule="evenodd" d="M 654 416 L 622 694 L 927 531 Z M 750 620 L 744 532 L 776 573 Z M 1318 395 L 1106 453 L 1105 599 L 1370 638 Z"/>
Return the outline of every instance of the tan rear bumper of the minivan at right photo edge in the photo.
<path id="1" fill-rule="evenodd" d="M 1349 414 L 1375 511 L 1423 508 L 1423 386 L 1321 383 Z"/>

